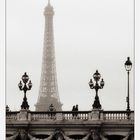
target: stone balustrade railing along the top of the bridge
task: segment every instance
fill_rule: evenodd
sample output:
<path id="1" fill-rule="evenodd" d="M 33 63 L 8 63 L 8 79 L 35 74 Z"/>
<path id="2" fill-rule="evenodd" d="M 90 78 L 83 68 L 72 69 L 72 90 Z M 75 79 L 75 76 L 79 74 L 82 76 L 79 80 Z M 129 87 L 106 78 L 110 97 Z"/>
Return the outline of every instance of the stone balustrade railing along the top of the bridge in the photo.
<path id="1" fill-rule="evenodd" d="M 129 115 L 129 116 L 128 116 Z M 55 111 L 35 112 L 21 110 L 17 112 L 6 112 L 6 120 L 134 120 L 134 111 Z"/>

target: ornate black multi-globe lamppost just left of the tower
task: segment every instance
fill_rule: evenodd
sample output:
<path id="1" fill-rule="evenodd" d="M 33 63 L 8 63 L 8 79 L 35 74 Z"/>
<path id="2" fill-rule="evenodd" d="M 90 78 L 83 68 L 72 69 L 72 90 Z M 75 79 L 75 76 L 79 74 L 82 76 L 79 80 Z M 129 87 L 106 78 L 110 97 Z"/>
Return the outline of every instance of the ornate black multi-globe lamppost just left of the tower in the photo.
<path id="1" fill-rule="evenodd" d="M 24 83 L 24 85 L 23 85 L 23 83 Z M 28 105 L 27 97 L 26 97 L 26 92 L 28 90 L 31 90 L 32 83 L 31 83 L 31 80 L 29 80 L 29 76 L 26 74 L 26 72 L 22 76 L 22 81 L 19 82 L 18 87 L 20 90 L 24 91 L 24 98 L 23 98 L 23 102 L 21 105 L 21 109 L 29 109 L 29 105 Z"/>

